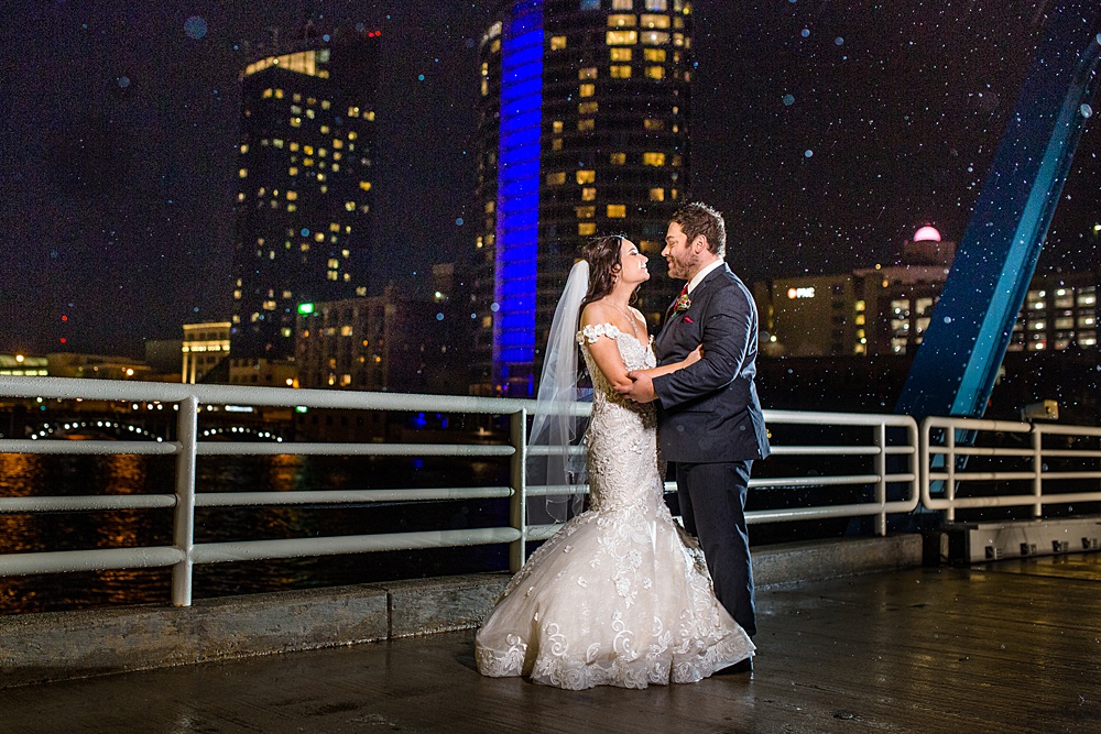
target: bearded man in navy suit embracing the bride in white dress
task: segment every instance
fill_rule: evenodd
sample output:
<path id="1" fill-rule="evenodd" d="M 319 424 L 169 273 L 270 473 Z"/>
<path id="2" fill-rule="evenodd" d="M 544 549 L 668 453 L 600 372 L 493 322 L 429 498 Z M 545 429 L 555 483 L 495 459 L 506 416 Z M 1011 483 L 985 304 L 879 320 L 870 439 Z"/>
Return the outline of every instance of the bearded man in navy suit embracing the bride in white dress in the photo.
<path id="1" fill-rule="evenodd" d="M 659 364 L 690 366 L 651 380 L 631 372 L 617 388 L 640 403 L 658 402 L 662 456 L 676 463 L 685 529 L 699 538 L 715 594 L 751 637 L 756 633 L 745 494 L 754 459 L 768 456 L 756 374 L 757 311 L 745 285 L 727 267 L 722 215 L 689 204 L 673 215 L 662 256 L 669 276 L 688 281 L 657 335 Z M 728 668 L 752 671 L 752 658 Z"/>

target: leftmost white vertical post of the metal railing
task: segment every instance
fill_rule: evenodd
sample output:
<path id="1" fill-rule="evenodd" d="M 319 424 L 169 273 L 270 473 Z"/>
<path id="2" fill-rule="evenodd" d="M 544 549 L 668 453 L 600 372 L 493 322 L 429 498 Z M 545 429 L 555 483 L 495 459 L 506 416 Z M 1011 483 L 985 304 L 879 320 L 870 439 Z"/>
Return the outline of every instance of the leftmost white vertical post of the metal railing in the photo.
<path id="1" fill-rule="evenodd" d="M 188 395 L 179 401 L 176 416 L 176 510 L 173 514 L 172 543 L 184 558 L 172 567 L 172 603 L 192 605 L 192 552 L 195 547 L 195 454 L 198 448 L 199 401 Z"/>

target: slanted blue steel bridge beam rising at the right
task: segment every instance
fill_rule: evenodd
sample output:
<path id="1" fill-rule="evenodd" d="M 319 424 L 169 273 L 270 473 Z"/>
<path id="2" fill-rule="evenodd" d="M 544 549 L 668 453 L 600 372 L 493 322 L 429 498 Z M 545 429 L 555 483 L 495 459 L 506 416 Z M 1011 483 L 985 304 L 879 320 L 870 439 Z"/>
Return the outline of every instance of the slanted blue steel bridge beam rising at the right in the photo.
<path id="1" fill-rule="evenodd" d="M 1051 3 L 896 413 L 980 417 L 1090 117 L 1101 2 Z"/>

